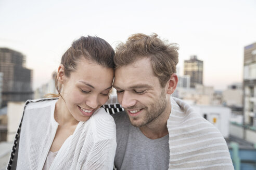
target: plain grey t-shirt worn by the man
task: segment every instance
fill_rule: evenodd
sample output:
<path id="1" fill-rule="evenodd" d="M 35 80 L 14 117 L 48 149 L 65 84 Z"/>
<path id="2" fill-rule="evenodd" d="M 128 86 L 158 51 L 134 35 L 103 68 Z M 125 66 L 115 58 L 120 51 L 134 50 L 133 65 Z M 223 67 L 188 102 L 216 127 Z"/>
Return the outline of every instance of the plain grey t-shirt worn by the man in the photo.
<path id="1" fill-rule="evenodd" d="M 147 138 L 130 123 L 125 111 L 112 115 L 117 126 L 117 151 L 114 164 L 118 170 L 168 169 L 169 135 Z"/>

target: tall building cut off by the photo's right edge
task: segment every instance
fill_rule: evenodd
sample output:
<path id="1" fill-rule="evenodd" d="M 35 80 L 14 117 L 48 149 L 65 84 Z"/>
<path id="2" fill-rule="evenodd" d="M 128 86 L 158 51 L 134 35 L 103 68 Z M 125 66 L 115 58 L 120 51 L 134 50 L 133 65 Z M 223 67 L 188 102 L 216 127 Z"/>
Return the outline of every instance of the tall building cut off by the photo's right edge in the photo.
<path id="1" fill-rule="evenodd" d="M 244 118 L 256 126 L 256 43 L 244 49 Z"/>

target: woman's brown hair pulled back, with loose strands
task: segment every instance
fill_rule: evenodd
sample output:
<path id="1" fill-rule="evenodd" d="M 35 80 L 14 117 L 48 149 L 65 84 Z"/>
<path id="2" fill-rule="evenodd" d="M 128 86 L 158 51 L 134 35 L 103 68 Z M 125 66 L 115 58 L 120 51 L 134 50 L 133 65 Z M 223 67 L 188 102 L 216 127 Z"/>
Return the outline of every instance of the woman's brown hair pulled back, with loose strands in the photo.
<path id="1" fill-rule="evenodd" d="M 64 73 L 67 77 L 76 70 L 76 66 L 81 58 L 95 62 L 107 68 L 114 68 L 114 50 L 102 38 L 93 36 L 82 36 L 75 40 L 71 47 L 62 55 L 61 62 L 64 66 Z M 47 97 L 59 97 L 61 86 L 55 77 L 55 87 L 59 94 L 47 94 Z"/>

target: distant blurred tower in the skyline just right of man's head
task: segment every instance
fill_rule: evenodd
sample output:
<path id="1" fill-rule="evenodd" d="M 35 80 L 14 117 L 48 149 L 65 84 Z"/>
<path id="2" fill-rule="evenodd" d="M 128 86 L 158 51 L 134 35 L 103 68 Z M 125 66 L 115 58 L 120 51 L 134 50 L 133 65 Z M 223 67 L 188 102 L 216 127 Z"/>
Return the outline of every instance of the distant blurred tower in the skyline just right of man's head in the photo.
<path id="1" fill-rule="evenodd" d="M 184 61 L 184 75 L 190 76 L 190 88 L 203 84 L 203 61 L 198 60 L 197 55 L 191 55 L 190 60 Z"/>

